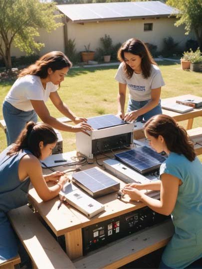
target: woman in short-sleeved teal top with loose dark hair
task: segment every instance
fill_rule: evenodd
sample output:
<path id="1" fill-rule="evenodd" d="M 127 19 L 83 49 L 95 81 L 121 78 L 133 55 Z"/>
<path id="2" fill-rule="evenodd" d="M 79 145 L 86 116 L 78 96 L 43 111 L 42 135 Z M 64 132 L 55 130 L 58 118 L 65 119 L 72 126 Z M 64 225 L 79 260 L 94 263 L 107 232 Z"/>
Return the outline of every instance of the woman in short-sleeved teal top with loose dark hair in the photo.
<path id="1" fill-rule="evenodd" d="M 169 116 L 157 115 L 144 127 L 150 145 L 168 155 L 160 180 L 127 184 L 123 190 L 152 210 L 172 216 L 175 233 L 164 250 L 160 268 L 202 268 L 191 265 L 202 258 L 202 163 L 187 132 Z M 140 190 L 160 190 L 160 200 Z"/>

